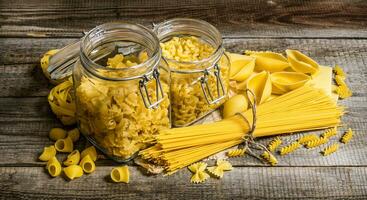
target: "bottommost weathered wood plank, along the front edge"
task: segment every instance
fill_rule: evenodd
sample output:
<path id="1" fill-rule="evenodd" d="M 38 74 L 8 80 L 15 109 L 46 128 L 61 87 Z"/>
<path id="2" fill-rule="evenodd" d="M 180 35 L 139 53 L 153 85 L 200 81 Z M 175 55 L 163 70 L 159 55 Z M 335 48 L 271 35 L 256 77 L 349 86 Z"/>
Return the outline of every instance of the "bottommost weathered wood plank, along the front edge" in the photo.
<path id="1" fill-rule="evenodd" d="M 130 167 L 130 184 L 109 179 L 112 167 L 68 182 L 42 167 L 1 167 L 3 199 L 365 199 L 366 167 L 240 167 L 223 179 L 191 184 L 190 172 L 145 176 Z M 47 188 L 47 190 L 45 190 Z"/>

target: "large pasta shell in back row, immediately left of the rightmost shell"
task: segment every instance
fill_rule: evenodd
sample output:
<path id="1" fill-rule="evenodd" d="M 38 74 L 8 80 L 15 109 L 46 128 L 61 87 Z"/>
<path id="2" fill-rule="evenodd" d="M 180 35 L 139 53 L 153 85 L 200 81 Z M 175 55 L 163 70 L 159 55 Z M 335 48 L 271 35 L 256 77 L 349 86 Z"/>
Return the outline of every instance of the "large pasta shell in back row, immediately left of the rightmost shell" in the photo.
<path id="1" fill-rule="evenodd" d="M 246 51 L 246 55 L 256 58 L 256 71 L 278 72 L 289 67 L 287 59 L 279 53 L 271 51 Z"/>

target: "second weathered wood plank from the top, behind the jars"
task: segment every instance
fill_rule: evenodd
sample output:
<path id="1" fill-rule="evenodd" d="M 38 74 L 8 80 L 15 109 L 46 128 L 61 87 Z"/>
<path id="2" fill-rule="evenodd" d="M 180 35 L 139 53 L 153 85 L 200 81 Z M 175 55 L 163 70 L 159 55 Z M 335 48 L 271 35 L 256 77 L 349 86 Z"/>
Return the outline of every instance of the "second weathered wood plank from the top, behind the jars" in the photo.
<path id="1" fill-rule="evenodd" d="M 61 48 L 75 39 L 0 38 L 0 96 L 46 96 L 52 87 L 39 69 L 39 60 L 49 49 Z M 366 97 L 367 40 L 334 39 L 226 39 L 230 52 L 299 49 L 324 65 L 339 64 L 348 73 L 355 96 Z M 360 99 L 361 103 L 365 99 Z"/>

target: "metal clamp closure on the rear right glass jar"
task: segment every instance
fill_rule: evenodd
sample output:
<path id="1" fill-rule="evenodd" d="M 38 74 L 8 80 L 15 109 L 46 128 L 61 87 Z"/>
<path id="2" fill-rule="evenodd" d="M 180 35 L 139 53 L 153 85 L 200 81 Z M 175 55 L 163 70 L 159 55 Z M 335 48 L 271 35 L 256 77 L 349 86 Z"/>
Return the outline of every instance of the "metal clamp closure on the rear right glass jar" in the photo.
<path id="1" fill-rule="evenodd" d="M 220 67 L 217 63 L 214 65 L 213 71 L 214 71 L 214 76 L 216 79 L 216 87 L 217 87 L 216 89 L 217 89 L 217 94 L 218 94 L 216 98 L 213 97 L 213 94 L 210 91 L 210 86 L 208 84 L 208 77 L 210 75 L 209 68 L 205 69 L 203 71 L 204 75 L 200 77 L 201 89 L 203 90 L 204 97 L 208 104 L 218 103 L 220 100 L 224 99 L 226 96 L 225 89 L 223 86 L 223 81 L 220 77 Z"/>

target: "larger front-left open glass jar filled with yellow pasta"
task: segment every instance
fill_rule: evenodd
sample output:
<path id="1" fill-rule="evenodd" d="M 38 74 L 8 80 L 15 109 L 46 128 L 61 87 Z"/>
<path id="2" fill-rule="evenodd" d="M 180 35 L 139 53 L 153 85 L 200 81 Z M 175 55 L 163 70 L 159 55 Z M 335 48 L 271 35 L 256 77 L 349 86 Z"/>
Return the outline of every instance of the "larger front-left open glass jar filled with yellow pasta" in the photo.
<path id="1" fill-rule="evenodd" d="M 158 38 L 141 25 L 107 23 L 88 32 L 73 81 L 80 131 L 116 161 L 170 127 L 169 68 Z"/>

